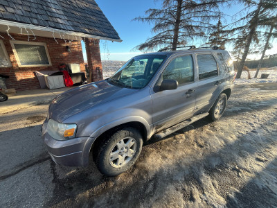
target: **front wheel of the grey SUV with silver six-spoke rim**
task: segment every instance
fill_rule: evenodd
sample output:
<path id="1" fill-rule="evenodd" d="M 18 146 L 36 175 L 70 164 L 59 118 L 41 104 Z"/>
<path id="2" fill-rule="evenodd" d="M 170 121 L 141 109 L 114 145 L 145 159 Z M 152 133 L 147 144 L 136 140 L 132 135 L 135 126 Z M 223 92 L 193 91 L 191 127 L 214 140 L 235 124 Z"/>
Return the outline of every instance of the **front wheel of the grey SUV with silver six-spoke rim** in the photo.
<path id="1" fill-rule="evenodd" d="M 96 166 L 104 175 L 119 175 L 134 165 L 141 154 L 142 146 L 143 139 L 139 130 L 118 130 L 100 145 Z"/>

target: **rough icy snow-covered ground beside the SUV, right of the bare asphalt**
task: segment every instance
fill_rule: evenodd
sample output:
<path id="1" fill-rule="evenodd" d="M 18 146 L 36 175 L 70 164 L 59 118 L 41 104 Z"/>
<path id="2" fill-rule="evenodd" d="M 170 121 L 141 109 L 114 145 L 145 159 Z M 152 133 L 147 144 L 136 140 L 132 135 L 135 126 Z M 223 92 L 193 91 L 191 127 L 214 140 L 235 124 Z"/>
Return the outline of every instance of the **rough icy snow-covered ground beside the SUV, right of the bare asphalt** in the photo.
<path id="1" fill-rule="evenodd" d="M 219 121 L 201 119 L 145 146 L 133 168 L 53 164 L 54 207 L 277 207 L 277 84 L 236 85 Z M 63 185 L 66 184 L 66 185 Z"/>

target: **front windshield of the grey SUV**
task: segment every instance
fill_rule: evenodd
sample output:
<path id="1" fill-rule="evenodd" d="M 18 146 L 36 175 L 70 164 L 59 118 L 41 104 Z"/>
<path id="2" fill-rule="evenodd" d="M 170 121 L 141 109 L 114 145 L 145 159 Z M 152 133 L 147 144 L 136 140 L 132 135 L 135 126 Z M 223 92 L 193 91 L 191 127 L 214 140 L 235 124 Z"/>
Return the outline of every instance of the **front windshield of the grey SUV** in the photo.
<path id="1" fill-rule="evenodd" d="M 109 83 L 132 89 L 142 89 L 152 79 L 159 69 L 166 55 L 139 55 L 121 67 L 111 78 Z"/>

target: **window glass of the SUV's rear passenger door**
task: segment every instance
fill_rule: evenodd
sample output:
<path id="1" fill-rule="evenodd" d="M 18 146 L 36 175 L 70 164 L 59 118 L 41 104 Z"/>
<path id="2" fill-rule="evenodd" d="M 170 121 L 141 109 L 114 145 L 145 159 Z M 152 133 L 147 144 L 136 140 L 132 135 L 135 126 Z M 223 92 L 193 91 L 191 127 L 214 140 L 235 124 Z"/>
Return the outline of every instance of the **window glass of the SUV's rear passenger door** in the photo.
<path id="1" fill-rule="evenodd" d="M 199 80 L 217 76 L 217 62 L 211 54 L 197 54 L 197 63 L 199 69 Z"/>

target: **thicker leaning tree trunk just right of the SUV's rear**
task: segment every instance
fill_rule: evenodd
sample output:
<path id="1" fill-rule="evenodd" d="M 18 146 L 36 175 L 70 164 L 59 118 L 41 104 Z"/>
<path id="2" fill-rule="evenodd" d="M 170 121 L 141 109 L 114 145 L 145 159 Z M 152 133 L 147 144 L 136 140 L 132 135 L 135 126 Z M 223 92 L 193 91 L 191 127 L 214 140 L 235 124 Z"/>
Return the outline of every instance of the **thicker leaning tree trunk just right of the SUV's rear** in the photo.
<path id="1" fill-rule="evenodd" d="M 242 54 L 242 60 L 240 61 L 240 64 L 238 64 L 238 73 L 237 73 L 237 76 L 235 76 L 235 78 L 240 79 L 240 76 L 242 75 L 242 69 L 244 67 L 245 60 L 247 59 L 247 55 L 249 53 L 250 44 L 252 42 L 253 35 L 256 32 L 256 27 L 258 26 L 258 16 L 259 16 L 261 6 L 262 6 L 262 0 L 260 0 L 258 4 L 258 8 L 255 12 L 255 15 L 253 19 L 251 19 L 250 32 L 247 37 L 247 44 L 245 45 L 244 52 Z"/>

